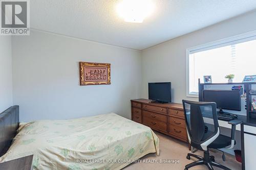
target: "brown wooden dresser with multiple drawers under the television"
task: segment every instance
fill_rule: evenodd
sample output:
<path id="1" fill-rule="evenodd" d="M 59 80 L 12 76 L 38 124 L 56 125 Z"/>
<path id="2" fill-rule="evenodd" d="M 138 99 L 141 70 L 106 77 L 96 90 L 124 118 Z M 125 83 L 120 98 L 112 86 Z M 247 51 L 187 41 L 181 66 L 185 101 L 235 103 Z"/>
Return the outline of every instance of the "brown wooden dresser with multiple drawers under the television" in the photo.
<path id="1" fill-rule="evenodd" d="M 131 102 L 132 120 L 188 142 L 182 104 L 160 104 L 146 99 L 131 100 Z"/>

